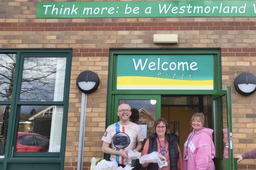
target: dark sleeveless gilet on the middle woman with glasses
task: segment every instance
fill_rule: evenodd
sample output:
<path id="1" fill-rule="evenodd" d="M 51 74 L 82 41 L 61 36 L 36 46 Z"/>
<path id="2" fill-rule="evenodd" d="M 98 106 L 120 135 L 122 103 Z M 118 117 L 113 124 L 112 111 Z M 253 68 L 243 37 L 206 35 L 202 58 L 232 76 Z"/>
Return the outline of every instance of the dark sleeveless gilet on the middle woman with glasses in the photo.
<path id="1" fill-rule="evenodd" d="M 177 145 L 177 136 L 173 133 L 165 134 L 166 140 L 169 142 L 168 145 L 168 154 L 170 157 L 170 169 L 171 170 L 178 170 L 178 160 L 179 160 L 179 150 Z M 148 153 L 157 151 L 157 134 L 153 133 L 149 136 L 149 147 Z M 147 167 L 147 170 L 158 170 L 157 163 L 150 163 Z"/>

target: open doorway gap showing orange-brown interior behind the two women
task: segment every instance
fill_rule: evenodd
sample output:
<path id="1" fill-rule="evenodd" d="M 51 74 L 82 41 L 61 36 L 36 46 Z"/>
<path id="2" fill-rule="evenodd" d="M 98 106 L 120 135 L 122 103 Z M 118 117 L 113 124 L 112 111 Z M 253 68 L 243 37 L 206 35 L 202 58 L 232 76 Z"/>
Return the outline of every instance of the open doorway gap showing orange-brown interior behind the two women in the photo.
<path id="1" fill-rule="evenodd" d="M 192 131 L 190 119 L 193 114 L 202 112 L 205 116 L 204 127 L 212 128 L 211 96 L 161 96 L 161 117 L 169 122 L 171 133 L 178 134 L 178 144 L 183 153 L 183 146 Z"/>

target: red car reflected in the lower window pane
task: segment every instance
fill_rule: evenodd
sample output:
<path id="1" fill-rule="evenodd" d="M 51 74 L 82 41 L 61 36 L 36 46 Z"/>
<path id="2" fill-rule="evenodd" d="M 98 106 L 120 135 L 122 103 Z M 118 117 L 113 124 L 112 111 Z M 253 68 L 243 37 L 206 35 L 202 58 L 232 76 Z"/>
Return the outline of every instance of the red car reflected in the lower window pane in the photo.
<path id="1" fill-rule="evenodd" d="M 16 152 L 47 152 L 50 140 L 37 133 L 18 132 Z"/>

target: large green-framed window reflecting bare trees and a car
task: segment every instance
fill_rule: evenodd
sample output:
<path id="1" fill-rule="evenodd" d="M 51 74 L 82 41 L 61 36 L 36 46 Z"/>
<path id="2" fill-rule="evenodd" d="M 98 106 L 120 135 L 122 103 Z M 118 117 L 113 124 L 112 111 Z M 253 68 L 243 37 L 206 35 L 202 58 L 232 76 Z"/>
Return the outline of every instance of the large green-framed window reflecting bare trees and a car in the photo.
<path id="1" fill-rule="evenodd" d="M 0 158 L 64 156 L 71 57 L 71 49 L 0 50 Z"/>

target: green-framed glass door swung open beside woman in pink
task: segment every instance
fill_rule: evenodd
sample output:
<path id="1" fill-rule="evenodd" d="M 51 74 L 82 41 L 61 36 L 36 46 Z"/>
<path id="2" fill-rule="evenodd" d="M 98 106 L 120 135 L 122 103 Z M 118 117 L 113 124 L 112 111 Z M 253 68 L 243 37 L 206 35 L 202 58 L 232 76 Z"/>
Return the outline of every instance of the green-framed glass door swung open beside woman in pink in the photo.
<path id="1" fill-rule="evenodd" d="M 233 157 L 231 90 L 226 87 L 212 95 L 215 168 L 237 170 Z"/>

